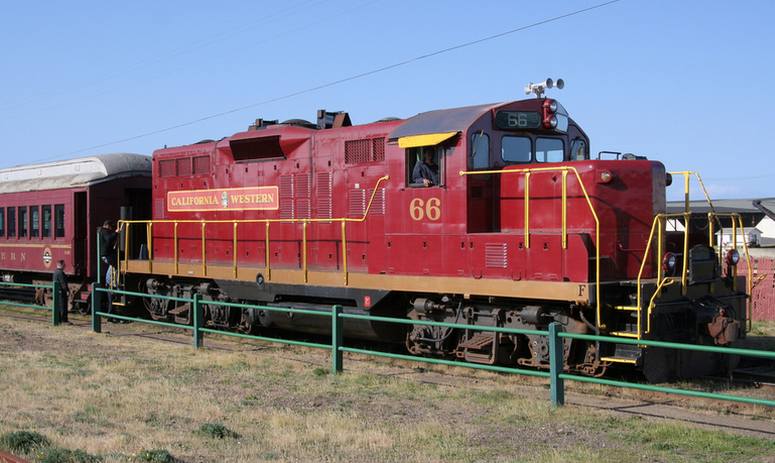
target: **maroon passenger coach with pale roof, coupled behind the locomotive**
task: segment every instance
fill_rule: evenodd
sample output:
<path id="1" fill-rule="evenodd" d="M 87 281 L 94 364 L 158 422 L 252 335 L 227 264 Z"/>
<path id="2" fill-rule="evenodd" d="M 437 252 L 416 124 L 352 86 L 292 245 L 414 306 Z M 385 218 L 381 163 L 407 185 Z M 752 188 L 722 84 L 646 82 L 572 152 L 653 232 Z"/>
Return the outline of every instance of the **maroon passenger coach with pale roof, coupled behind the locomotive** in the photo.
<path id="1" fill-rule="evenodd" d="M 65 261 L 73 302 L 86 303 L 96 272 L 96 227 L 119 211 L 150 213 L 151 160 L 104 154 L 0 170 L 0 276 L 50 282 Z"/>

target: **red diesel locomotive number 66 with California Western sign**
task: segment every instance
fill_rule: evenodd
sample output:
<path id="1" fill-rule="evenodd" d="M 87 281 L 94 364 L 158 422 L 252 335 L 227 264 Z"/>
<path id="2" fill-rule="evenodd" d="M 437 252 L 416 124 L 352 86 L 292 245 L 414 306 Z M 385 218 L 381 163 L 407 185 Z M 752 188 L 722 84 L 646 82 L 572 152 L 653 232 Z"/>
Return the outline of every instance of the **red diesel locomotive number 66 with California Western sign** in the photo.
<path id="1" fill-rule="evenodd" d="M 207 323 L 250 331 L 329 326 L 206 301 L 341 304 L 515 328 L 558 321 L 573 332 L 693 343 L 744 336 L 739 256 L 722 259 L 688 223 L 665 229 L 689 216 L 665 214 L 671 176 L 662 163 L 591 159 L 581 127 L 537 93 L 363 125 L 324 110 L 316 123 L 259 119 L 219 141 L 157 150 L 153 218 L 121 223 L 119 283 L 199 293 Z M 708 220 L 712 229 L 735 218 Z M 132 246 L 138 234 L 147 239 Z M 145 304 L 156 319 L 191 321 L 185 304 Z M 345 335 L 419 355 L 548 364 L 540 336 L 358 321 Z M 566 341 L 565 356 L 586 374 L 612 364 L 651 379 L 719 368 L 713 355 L 624 344 Z"/>

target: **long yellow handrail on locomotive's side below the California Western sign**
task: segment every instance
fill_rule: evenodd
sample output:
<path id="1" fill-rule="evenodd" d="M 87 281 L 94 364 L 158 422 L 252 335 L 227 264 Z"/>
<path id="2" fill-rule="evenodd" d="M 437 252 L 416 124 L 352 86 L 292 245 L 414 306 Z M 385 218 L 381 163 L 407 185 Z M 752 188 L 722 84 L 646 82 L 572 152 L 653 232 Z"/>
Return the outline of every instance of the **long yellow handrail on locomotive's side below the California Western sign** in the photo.
<path id="1" fill-rule="evenodd" d="M 290 219 L 241 219 L 241 220 L 228 220 L 228 219 L 221 219 L 221 220 L 196 220 L 196 219 L 183 219 L 183 220 L 176 220 L 176 219 L 152 219 L 152 220 L 120 220 L 119 221 L 119 227 L 123 227 L 126 225 L 126 249 L 127 252 L 124 255 L 124 270 L 128 269 L 128 263 L 129 263 L 129 229 L 131 228 L 130 225 L 133 224 L 146 224 L 146 227 L 148 227 L 150 230 L 152 230 L 152 226 L 154 223 L 171 223 L 173 224 L 174 231 L 173 231 L 173 248 L 174 248 L 174 262 L 175 262 L 175 273 L 179 273 L 179 267 L 178 267 L 178 225 L 181 223 L 200 223 L 202 225 L 202 275 L 207 275 L 207 245 L 206 245 L 206 226 L 208 224 L 222 224 L 222 223 L 231 223 L 234 226 L 234 232 L 233 232 L 233 256 L 232 256 L 232 267 L 233 267 L 233 273 L 236 277 L 238 274 L 238 268 L 237 268 L 237 227 L 239 224 L 243 223 L 263 223 L 266 225 L 265 229 L 265 273 L 266 273 L 266 279 L 267 281 L 271 281 L 271 265 L 270 265 L 270 224 L 272 223 L 300 223 L 302 224 L 302 269 L 304 272 L 304 281 L 308 281 L 308 265 L 307 265 L 307 225 L 310 223 L 341 223 L 342 225 L 342 268 L 344 271 L 344 279 L 345 284 L 348 283 L 348 275 L 347 275 L 347 239 L 346 239 L 346 224 L 347 223 L 362 223 L 365 222 L 366 219 L 369 216 L 369 213 L 371 212 L 372 204 L 374 203 L 374 198 L 377 195 L 377 192 L 379 191 L 380 185 L 383 182 L 386 182 L 390 180 L 389 175 L 383 175 L 382 177 L 378 178 L 376 183 L 374 184 L 374 188 L 371 192 L 371 196 L 369 197 L 369 202 L 366 205 L 366 209 L 363 212 L 363 215 L 361 217 L 336 217 L 336 218 L 290 218 Z M 151 233 L 148 233 L 148 239 L 151 239 Z M 148 245 L 150 246 L 150 241 L 148 242 Z M 152 260 L 150 250 L 148 254 L 149 261 Z M 151 267 L 149 267 L 149 270 L 152 269 L 152 263 L 150 264 Z"/>

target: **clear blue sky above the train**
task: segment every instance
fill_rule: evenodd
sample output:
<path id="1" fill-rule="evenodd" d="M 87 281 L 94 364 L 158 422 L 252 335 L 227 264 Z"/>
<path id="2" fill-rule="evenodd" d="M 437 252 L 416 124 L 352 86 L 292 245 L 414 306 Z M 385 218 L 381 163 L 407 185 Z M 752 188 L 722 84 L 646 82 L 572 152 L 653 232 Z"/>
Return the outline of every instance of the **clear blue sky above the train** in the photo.
<path id="1" fill-rule="evenodd" d="M 553 93 L 592 150 L 699 170 L 714 197 L 775 196 L 775 2 L 618 3 L 320 91 L 99 149 L 600 0 L 9 2 L 0 28 L 0 167 L 150 154 L 257 117 L 354 123 Z M 675 196 L 675 194 L 671 194 Z"/>

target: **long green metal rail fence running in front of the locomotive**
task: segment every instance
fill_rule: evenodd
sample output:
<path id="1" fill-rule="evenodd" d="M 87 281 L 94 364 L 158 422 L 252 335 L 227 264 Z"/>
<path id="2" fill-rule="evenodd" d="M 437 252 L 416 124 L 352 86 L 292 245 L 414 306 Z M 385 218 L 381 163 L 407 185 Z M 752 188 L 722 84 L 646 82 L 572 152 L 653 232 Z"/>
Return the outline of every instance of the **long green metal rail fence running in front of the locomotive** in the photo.
<path id="1" fill-rule="evenodd" d="M 192 310 L 192 317 L 191 317 L 192 323 L 191 325 L 182 325 L 178 323 L 170 323 L 170 322 L 148 320 L 144 318 L 128 317 L 124 315 L 118 315 L 118 314 L 99 310 L 99 308 L 101 307 L 102 297 L 109 292 L 112 292 L 114 295 L 147 297 L 147 298 L 165 299 L 165 300 L 189 303 L 191 304 L 191 310 Z M 701 398 L 707 398 L 707 399 L 734 401 L 734 402 L 742 402 L 742 403 L 753 404 L 753 405 L 775 407 L 775 400 L 770 400 L 770 399 L 759 399 L 759 398 L 745 397 L 745 396 L 732 395 L 732 394 L 722 394 L 722 393 L 716 393 L 716 392 L 706 392 L 706 391 L 698 391 L 698 390 L 692 390 L 692 389 L 681 389 L 681 388 L 674 388 L 674 387 L 656 386 L 652 384 L 643 384 L 643 383 L 619 381 L 619 380 L 604 379 L 604 378 L 594 378 L 594 377 L 580 376 L 576 374 L 566 373 L 563 370 L 563 363 L 564 363 L 563 362 L 563 340 L 564 339 L 576 339 L 576 340 L 582 340 L 582 341 L 606 342 L 606 343 L 617 343 L 617 344 L 633 344 L 633 345 L 645 346 L 645 347 L 660 347 L 660 348 L 668 348 L 668 349 L 676 349 L 676 350 L 694 350 L 694 351 L 701 351 L 701 352 L 712 352 L 712 353 L 727 354 L 727 355 L 740 355 L 740 356 L 758 357 L 758 358 L 764 358 L 769 360 L 775 360 L 775 352 L 770 352 L 770 351 L 683 344 L 683 343 L 674 343 L 674 342 L 667 342 L 667 341 L 650 341 L 650 340 L 644 340 L 644 339 L 636 340 L 636 339 L 627 339 L 627 338 L 610 337 L 610 336 L 598 336 L 598 335 L 591 335 L 591 334 L 567 333 L 567 332 L 563 332 L 562 325 L 560 325 L 559 323 L 550 324 L 548 331 L 544 331 L 544 330 L 516 329 L 516 328 L 493 327 L 493 326 L 476 326 L 476 325 L 466 325 L 466 324 L 460 324 L 460 323 L 436 322 L 436 321 L 430 321 L 430 320 L 410 320 L 410 319 L 391 318 L 391 317 L 379 317 L 379 316 L 366 315 L 366 314 L 349 314 L 349 313 L 344 313 L 342 310 L 342 306 L 339 306 L 339 305 L 335 305 L 330 308 L 321 307 L 321 310 L 295 309 L 295 308 L 285 308 L 285 307 L 266 306 L 266 305 L 251 305 L 251 304 L 243 304 L 243 303 L 236 303 L 236 302 L 202 300 L 198 294 L 195 295 L 193 298 L 181 298 L 181 297 L 173 297 L 173 296 L 149 295 L 144 293 L 136 293 L 132 291 L 123 291 L 123 290 L 111 291 L 109 289 L 102 288 L 102 287 L 97 288 L 92 293 L 92 296 L 94 297 L 92 301 L 92 327 L 96 332 L 99 332 L 101 329 L 101 321 L 100 321 L 101 318 L 115 318 L 120 320 L 130 320 L 130 321 L 148 323 L 148 324 L 159 325 L 164 327 L 181 328 L 185 330 L 190 330 L 192 331 L 192 335 L 193 335 L 193 346 L 196 348 L 200 348 L 203 346 L 203 335 L 207 333 L 207 334 L 219 334 L 223 336 L 231 336 L 231 337 L 237 337 L 237 338 L 243 338 L 243 339 L 252 339 L 252 340 L 258 340 L 258 341 L 269 341 L 269 342 L 276 342 L 276 343 L 283 343 L 283 344 L 290 344 L 290 345 L 297 345 L 297 346 L 304 346 L 304 347 L 312 347 L 316 349 L 326 349 L 331 352 L 331 372 L 333 374 L 337 374 L 343 370 L 344 359 L 342 354 L 346 352 L 346 353 L 352 353 L 352 354 L 385 357 L 385 358 L 391 358 L 391 359 L 423 362 L 423 363 L 430 363 L 430 364 L 436 364 L 436 365 L 459 366 L 464 368 L 486 370 L 486 371 L 492 371 L 497 373 L 510 373 L 510 374 L 539 377 L 539 378 L 548 378 L 549 386 L 550 386 L 550 399 L 552 404 L 555 406 L 560 406 L 565 403 L 565 381 L 567 380 L 567 381 L 577 381 L 577 382 L 584 382 L 584 383 L 595 383 L 595 384 L 601 384 L 601 385 L 613 386 L 613 387 L 640 389 L 640 390 L 646 390 L 646 391 L 661 392 L 666 394 L 676 394 L 676 395 L 683 395 L 683 396 L 690 396 L 690 397 L 701 397 Z M 203 304 L 218 305 L 223 307 L 232 307 L 232 308 L 247 309 L 247 310 L 266 310 L 266 311 L 282 312 L 282 313 L 290 313 L 290 314 L 305 314 L 305 315 L 313 315 L 313 316 L 320 316 L 320 317 L 330 317 L 331 342 L 330 344 L 324 344 L 324 343 L 318 343 L 318 342 L 300 341 L 300 340 L 267 337 L 267 336 L 257 336 L 252 334 L 236 333 L 236 332 L 206 328 L 203 326 L 203 320 L 204 320 L 203 307 L 202 307 Z M 362 321 L 384 322 L 384 323 L 394 323 L 394 324 L 402 324 L 402 325 L 425 325 L 425 326 L 435 326 L 435 327 L 461 329 L 461 330 L 488 331 L 488 332 L 494 332 L 494 333 L 547 336 L 548 342 L 549 342 L 549 359 L 550 359 L 549 371 L 530 370 L 530 369 L 524 369 L 524 368 L 512 368 L 512 367 L 505 367 L 505 366 L 499 366 L 499 365 L 466 363 L 466 362 L 459 362 L 459 361 L 441 359 L 441 358 L 418 357 L 418 356 L 398 354 L 393 352 L 383 352 L 383 351 L 377 351 L 377 350 L 348 347 L 345 345 L 344 337 L 343 337 L 344 323 L 347 320 L 362 320 Z"/>

